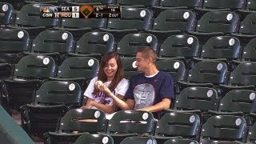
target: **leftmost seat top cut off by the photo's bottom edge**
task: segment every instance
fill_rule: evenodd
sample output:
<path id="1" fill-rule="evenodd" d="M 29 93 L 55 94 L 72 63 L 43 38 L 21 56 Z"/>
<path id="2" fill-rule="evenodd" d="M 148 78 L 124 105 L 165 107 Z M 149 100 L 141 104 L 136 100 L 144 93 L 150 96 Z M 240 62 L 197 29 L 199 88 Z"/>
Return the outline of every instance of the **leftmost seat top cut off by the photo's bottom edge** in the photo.
<path id="1" fill-rule="evenodd" d="M 105 134 L 82 134 L 74 144 L 90 144 L 90 143 L 114 144 L 114 140 Z"/>

